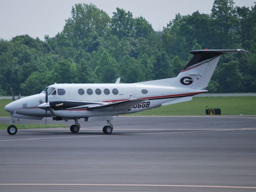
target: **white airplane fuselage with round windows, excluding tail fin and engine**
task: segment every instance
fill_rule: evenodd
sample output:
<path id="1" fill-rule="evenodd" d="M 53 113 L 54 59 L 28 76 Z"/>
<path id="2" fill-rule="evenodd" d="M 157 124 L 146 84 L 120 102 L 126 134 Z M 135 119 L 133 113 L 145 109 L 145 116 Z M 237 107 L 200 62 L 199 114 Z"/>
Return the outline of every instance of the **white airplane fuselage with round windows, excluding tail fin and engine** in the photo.
<path id="1" fill-rule="evenodd" d="M 63 118 L 85 118 L 91 116 L 106 116 L 135 113 L 142 110 L 161 106 L 163 103 L 189 97 L 205 91 L 172 86 L 154 86 L 144 84 L 53 84 L 48 101 L 87 101 L 87 102 L 119 102 L 131 98 L 141 98 L 145 101 L 136 104 L 131 110 L 113 112 L 95 112 L 85 108 L 54 110 L 54 116 Z M 45 110 L 38 108 L 44 102 L 45 93 L 35 94 L 16 100 L 6 106 L 12 108 L 16 114 L 27 116 L 46 116 Z M 47 116 L 53 116 L 50 111 Z"/>

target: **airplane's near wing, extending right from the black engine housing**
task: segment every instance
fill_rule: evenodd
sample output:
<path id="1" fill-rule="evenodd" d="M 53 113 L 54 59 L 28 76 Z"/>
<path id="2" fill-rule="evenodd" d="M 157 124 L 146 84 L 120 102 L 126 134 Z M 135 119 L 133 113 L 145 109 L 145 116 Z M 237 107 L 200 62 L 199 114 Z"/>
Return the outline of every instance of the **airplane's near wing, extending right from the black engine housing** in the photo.
<path id="1" fill-rule="evenodd" d="M 147 99 L 137 99 L 137 98 L 131 98 L 129 100 L 125 101 L 119 101 L 114 103 L 107 103 L 97 106 L 89 106 L 87 108 L 88 111 L 126 111 L 133 108 L 133 106 L 145 101 Z"/>

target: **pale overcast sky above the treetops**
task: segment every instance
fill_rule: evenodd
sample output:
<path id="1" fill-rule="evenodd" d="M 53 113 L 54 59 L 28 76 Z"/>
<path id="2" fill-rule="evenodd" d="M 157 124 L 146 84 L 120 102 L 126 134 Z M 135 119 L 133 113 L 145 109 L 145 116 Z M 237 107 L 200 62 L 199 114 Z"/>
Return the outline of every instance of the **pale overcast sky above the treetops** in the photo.
<path id="1" fill-rule="evenodd" d="M 236 6 L 250 7 L 256 0 L 234 0 Z M 154 30 L 162 29 L 175 14 L 191 14 L 197 10 L 210 14 L 214 0 L 0 0 L 0 38 L 9 40 L 28 34 L 44 40 L 62 31 L 76 3 L 93 3 L 112 17 L 116 8 L 143 16 Z"/>

